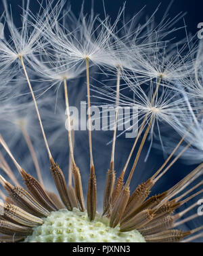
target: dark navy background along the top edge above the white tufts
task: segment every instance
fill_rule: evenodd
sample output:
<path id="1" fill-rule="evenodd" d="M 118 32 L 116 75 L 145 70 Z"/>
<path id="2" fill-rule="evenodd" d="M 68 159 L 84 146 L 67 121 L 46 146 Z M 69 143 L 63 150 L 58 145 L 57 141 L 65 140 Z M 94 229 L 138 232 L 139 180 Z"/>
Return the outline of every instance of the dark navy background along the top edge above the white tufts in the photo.
<path id="1" fill-rule="evenodd" d="M 55 1 L 57 2 L 57 1 Z M 103 8 L 103 1 L 97 0 L 86 0 L 85 1 L 85 12 L 89 12 L 91 10 L 91 3 L 94 4 L 94 10 L 95 13 L 101 14 L 101 16 L 104 14 L 104 8 Z M 22 5 L 22 0 L 7 0 L 7 3 L 11 4 L 13 8 L 13 14 L 14 16 L 18 16 L 20 8 L 18 8 L 18 5 Z M 40 1 L 39 3 L 45 3 L 45 1 Z M 81 10 L 81 5 L 83 3 L 83 0 L 69 0 L 68 3 L 72 6 L 72 11 L 75 14 L 78 14 Z M 120 6 L 123 5 L 123 3 L 126 3 L 126 14 L 129 16 L 133 16 L 136 14 L 136 12 L 139 12 L 144 6 L 145 6 L 145 15 L 150 15 L 154 10 L 156 10 L 156 7 L 160 5 L 160 10 L 156 14 L 156 19 L 159 20 L 162 18 L 162 14 L 165 12 L 166 7 L 171 3 L 171 0 L 104 0 L 104 4 L 106 7 L 106 12 L 112 17 L 112 20 L 116 18 L 116 15 L 118 13 L 118 10 L 120 9 Z M 30 10 L 32 12 L 37 12 L 39 7 L 39 4 L 37 3 L 37 0 L 31 0 L 30 1 Z M 168 14 L 171 17 L 174 17 L 175 15 L 179 14 L 180 12 L 187 13 L 185 16 L 185 23 L 187 24 L 187 30 L 191 33 L 197 32 L 197 25 L 199 22 L 202 22 L 202 8 L 203 3 L 201 0 L 174 0 L 173 4 L 168 12 Z M 0 1 L 0 10 L 3 10 L 3 4 Z M 180 23 L 179 23 L 180 24 Z M 183 22 L 182 22 L 183 24 Z M 177 35 L 179 37 L 184 36 L 184 32 L 179 33 Z"/>

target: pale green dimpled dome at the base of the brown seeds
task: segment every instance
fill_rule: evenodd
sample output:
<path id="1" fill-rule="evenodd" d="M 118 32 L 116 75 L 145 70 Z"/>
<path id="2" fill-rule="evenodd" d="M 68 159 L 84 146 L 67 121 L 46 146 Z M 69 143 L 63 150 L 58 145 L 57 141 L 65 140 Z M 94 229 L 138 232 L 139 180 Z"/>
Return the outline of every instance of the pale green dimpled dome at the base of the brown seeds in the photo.
<path id="1" fill-rule="evenodd" d="M 120 232 L 119 227 L 109 227 L 109 220 L 96 215 L 89 221 L 87 212 L 62 209 L 51 212 L 44 223 L 33 228 L 32 236 L 25 242 L 145 242 L 137 231 Z"/>

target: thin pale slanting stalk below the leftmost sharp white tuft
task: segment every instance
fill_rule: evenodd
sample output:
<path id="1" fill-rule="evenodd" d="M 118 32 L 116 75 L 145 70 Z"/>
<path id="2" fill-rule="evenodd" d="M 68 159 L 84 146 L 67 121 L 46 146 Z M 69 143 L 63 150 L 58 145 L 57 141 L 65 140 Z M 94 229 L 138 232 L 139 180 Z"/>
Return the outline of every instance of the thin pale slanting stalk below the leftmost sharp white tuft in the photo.
<path id="1" fill-rule="evenodd" d="M 39 124 L 40 124 L 40 127 L 41 127 L 41 132 L 42 132 L 42 134 L 43 134 L 43 139 L 44 139 L 44 141 L 45 141 L 45 146 L 46 146 L 46 148 L 47 148 L 47 153 L 48 153 L 48 155 L 49 155 L 49 160 L 51 160 L 51 158 L 52 158 L 52 156 L 51 156 L 51 151 L 50 151 L 49 145 L 48 145 L 48 143 L 47 143 L 47 138 L 46 138 L 45 131 L 44 131 L 44 128 L 43 128 L 43 124 L 42 124 L 42 122 L 41 122 L 41 116 L 40 116 L 40 114 L 39 114 L 39 109 L 38 109 L 38 107 L 37 107 L 37 102 L 36 102 L 36 99 L 35 99 L 35 94 L 34 94 L 34 92 L 33 92 L 33 90 L 32 90 L 32 86 L 31 86 L 31 84 L 30 84 L 30 79 L 29 79 L 29 77 L 28 77 L 28 73 L 27 73 L 27 71 L 26 71 L 26 67 L 25 67 L 25 65 L 24 65 L 24 60 L 23 60 L 23 58 L 22 58 L 22 55 L 19 56 L 19 59 L 20 59 L 20 62 L 21 62 L 21 64 L 22 64 L 22 69 L 23 69 L 23 71 L 24 71 L 24 75 L 25 75 L 26 80 L 27 80 L 27 82 L 28 82 L 28 86 L 29 86 L 29 88 L 30 88 L 30 92 L 31 92 L 31 95 L 32 95 L 33 102 L 34 102 L 34 104 L 35 104 L 35 109 L 36 109 L 36 111 L 37 111 L 37 117 L 38 117 Z"/>

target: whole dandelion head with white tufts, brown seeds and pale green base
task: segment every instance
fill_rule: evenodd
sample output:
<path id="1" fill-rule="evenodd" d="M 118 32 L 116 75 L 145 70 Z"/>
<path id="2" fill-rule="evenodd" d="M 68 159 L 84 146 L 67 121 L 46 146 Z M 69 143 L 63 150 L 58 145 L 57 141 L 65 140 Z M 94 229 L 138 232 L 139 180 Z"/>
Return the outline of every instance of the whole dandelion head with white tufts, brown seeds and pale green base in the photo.
<path id="1" fill-rule="evenodd" d="M 6 1 L 3 2 L 3 23 L 7 26 L 9 36 L 5 35 L 4 39 L 0 39 L 0 69 L 1 73 L 4 73 L 4 83 L 0 90 L 4 90 L 8 84 L 12 87 L 8 87 L 9 92 L 16 87 L 18 89 L 12 94 L 12 98 L 9 98 L 7 93 L 0 96 L 0 120 L 3 122 L 0 127 L 0 144 L 3 150 L 3 154 L 0 154 L 0 168 L 12 182 L 9 183 L 0 175 L 0 183 L 9 196 L 7 202 L 0 203 L 5 209 L 3 219 L 0 220 L 0 232 L 5 236 L 1 236 L 0 240 L 179 242 L 186 236 L 200 232 L 203 228 L 201 225 L 197 229 L 182 232 L 177 227 L 180 225 L 177 221 L 187 221 L 183 215 L 196 206 L 191 204 L 190 200 L 197 200 L 202 194 L 202 181 L 199 182 L 202 179 L 202 164 L 168 190 L 159 191 L 156 196 L 150 195 L 155 183 L 188 148 L 187 143 L 200 149 L 199 156 L 202 151 L 202 141 L 198 143 L 202 134 L 202 120 L 198 120 L 197 116 L 202 103 L 194 93 L 196 90 L 199 92 L 201 88 L 201 51 L 199 48 L 196 58 L 196 47 L 191 47 L 190 37 L 187 37 L 186 43 L 185 40 L 174 44 L 170 39 L 164 40 L 164 37 L 177 31 L 171 29 L 176 19 L 170 20 L 164 14 L 162 22 L 156 25 L 154 14 L 157 9 L 143 25 L 135 22 L 135 15 L 129 21 L 123 18 L 120 27 L 120 18 L 124 15 L 125 6 L 112 22 L 106 12 L 105 17 L 101 19 L 94 14 L 93 9 L 89 15 L 84 14 L 82 7 L 81 14 L 76 17 L 69 6 L 66 9 L 65 0 L 55 5 L 55 1 L 45 1 L 45 8 L 40 4 L 41 12 L 37 15 L 30 12 L 28 4 L 22 7 L 22 27 L 18 29 L 12 20 L 11 10 Z M 16 61 L 17 59 L 19 61 Z M 103 136 L 99 133 L 91 136 L 93 132 L 89 130 L 82 132 L 80 137 L 75 131 L 74 147 L 74 132 L 65 128 L 65 122 L 71 123 L 70 113 L 67 111 L 70 107 L 69 100 L 78 107 L 81 98 L 87 96 L 87 105 L 91 106 L 89 80 L 95 75 L 94 67 L 106 78 L 102 82 L 93 80 L 93 91 L 99 94 L 95 98 L 101 100 L 102 105 L 114 106 L 116 111 L 119 111 L 120 107 L 138 109 L 135 115 L 129 112 L 128 119 L 122 117 L 122 121 L 128 126 L 122 130 L 121 135 L 135 126 L 138 127 L 138 134 L 133 138 L 134 144 L 129 154 L 123 150 L 125 143 L 120 143 L 121 146 L 117 149 L 119 144 L 116 137 L 120 134 L 116 134 L 116 126 L 119 115 L 114 117 L 112 153 L 105 149 L 104 160 L 100 159 L 101 149 L 97 143 L 97 140 L 104 143 Z M 9 77 L 5 79 L 7 73 Z M 22 75 L 26 78 L 30 94 L 24 89 L 25 82 L 20 81 Z M 79 80 L 85 75 L 85 81 Z M 109 81 L 111 83 L 108 83 Z M 191 81 L 196 81 L 194 87 L 191 86 Z M 87 85 L 87 92 L 81 84 Z M 189 87 L 186 88 L 188 84 Z M 20 98 L 24 100 L 21 101 L 16 96 L 17 92 L 20 92 Z M 37 115 L 32 114 L 34 110 Z M 88 117 L 91 122 L 89 113 Z M 81 120 L 78 119 L 79 121 Z M 36 124 L 40 126 L 41 133 Z M 178 144 L 175 145 L 171 139 L 174 132 L 170 133 L 171 136 L 165 133 L 169 143 L 168 138 L 166 141 L 162 140 L 165 127 L 181 135 Z M 154 140 L 159 140 L 159 148 L 162 147 L 164 152 L 164 146 L 170 148 L 170 143 L 173 143 L 173 153 L 170 151 L 170 155 L 158 170 L 150 166 L 153 172 L 150 178 L 149 173 L 145 172 L 145 181 L 143 174 L 138 173 L 137 177 L 141 177 L 142 183 L 139 184 L 136 179 L 137 187 L 130 191 L 130 185 L 134 183 L 132 178 L 135 169 L 139 167 L 138 161 L 143 158 L 141 154 L 147 139 L 150 140 L 150 147 L 145 160 L 150 156 Z M 66 147 L 63 149 L 62 146 Z M 47 152 L 44 149 L 47 149 Z M 4 158 L 5 153 L 24 180 L 25 189 L 18 184 L 14 172 L 7 164 L 7 158 Z M 125 155 L 128 156 L 127 161 L 123 160 Z M 88 156 L 90 161 L 87 160 Z M 64 171 L 56 160 L 59 160 L 59 164 L 62 162 Z M 128 172 L 132 160 L 133 166 Z M 68 168 L 66 162 L 69 164 Z M 32 166 L 35 166 L 35 169 Z M 43 182 L 41 170 L 45 169 L 50 169 L 50 172 L 44 172 Z M 31 176 L 30 172 L 34 170 L 36 173 Z M 90 170 L 89 178 L 85 177 L 86 170 Z M 104 180 L 104 175 L 100 176 L 104 170 L 107 177 L 106 189 L 100 182 Z M 143 170 L 143 166 L 139 170 Z M 49 183 L 48 175 L 52 175 L 55 189 Z M 15 186 L 12 185 L 13 182 Z M 168 186 L 171 184 L 169 183 L 168 181 Z M 87 191 L 87 211 L 83 186 L 84 191 Z M 101 203 L 97 203 L 97 199 L 100 200 L 102 196 L 101 187 L 104 189 L 103 216 L 96 211 L 101 208 Z M 191 194 L 197 187 L 197 192 Z M 0 192 L 0 196 L 6 198 L 3 191 Z M 182 205 L 185 206 L 185 211 L 181 211 Z M 190 218 L 193 220 L 197 217 Z"/>

